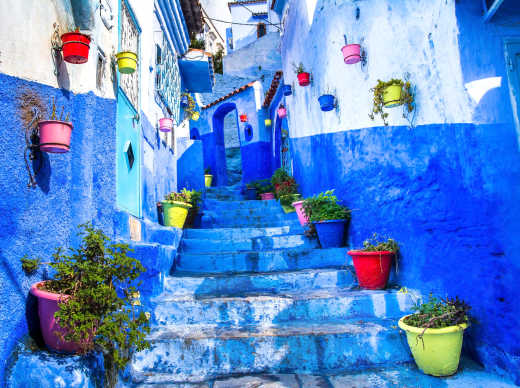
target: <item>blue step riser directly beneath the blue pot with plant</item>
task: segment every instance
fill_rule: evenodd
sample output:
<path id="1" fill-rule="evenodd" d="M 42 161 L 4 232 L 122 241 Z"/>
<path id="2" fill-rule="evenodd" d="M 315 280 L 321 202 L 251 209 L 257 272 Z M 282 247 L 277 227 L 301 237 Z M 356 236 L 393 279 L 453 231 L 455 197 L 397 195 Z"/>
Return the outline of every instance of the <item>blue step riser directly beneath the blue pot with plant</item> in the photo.
<path id="1" fill-rule="evenodd" d="M 272 251 L 180 253 L 175 259 L 177 275 L 233 274 L 344 268 L 351 265 L 348 248 L 285 249 Z"/>

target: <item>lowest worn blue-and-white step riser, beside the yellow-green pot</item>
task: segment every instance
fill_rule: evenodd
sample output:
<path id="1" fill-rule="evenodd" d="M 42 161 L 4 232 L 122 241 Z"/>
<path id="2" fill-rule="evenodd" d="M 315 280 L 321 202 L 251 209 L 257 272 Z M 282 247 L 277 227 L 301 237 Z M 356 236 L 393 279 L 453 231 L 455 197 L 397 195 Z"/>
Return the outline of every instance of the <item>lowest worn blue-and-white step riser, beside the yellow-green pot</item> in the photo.
<path id="1" fill-rule="evenodd" d="M 134 382 L 167 383 L 241 373 L 342 373 L 410 361 L 397 329 L 367 328 L 356 334 L 156 342 L 135 356 L 132 375 Z"/>

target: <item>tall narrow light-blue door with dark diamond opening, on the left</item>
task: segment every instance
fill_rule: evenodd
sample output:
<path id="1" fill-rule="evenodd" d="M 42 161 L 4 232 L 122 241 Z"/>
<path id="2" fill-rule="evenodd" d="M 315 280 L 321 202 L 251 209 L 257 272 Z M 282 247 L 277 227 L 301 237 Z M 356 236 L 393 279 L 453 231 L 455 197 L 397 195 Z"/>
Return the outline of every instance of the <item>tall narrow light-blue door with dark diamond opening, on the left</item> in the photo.
<path id="1" fill-rule="evenodd" d="M 119 4 L 119 51 L 139 55 L 139 25 L 126 0 Z M 141 217 L 141 123 L 139 121 L 139 71 L 118 73 L 116 117 L 116 203 Z"/>

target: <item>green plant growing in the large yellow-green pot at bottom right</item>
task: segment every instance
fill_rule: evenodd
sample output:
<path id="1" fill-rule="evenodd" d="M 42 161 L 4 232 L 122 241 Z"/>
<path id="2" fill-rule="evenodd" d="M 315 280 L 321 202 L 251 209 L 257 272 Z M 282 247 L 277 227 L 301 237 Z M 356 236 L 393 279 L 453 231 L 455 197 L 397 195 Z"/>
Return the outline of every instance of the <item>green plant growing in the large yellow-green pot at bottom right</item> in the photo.
<path id="1" fill-rule="evenodd" d="M 440 329 L 448 326 L 469 323 L 469 306 L 466 302 L 455 297 L 455 299 L 440 299 L 431 293 L 428 301 L 416 302 L 412 310 L 414 314 L 406 317 L 404 323 L 413 327 Z"/>

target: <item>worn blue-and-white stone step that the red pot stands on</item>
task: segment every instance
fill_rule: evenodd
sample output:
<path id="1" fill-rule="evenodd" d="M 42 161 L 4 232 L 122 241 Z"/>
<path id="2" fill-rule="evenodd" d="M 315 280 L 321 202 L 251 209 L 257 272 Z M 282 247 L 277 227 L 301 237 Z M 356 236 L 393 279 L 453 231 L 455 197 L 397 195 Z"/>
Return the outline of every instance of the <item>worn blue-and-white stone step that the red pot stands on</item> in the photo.
<path id="1" fill-rule="evenodd" d="M 352 278 L 348 280 L 352 281 Z M 165 293 L 155 299 L 154 323 L 161 326 L 214 324 L 218 327 L 341 323 L 353 318 L 399 319 L 409 314 L 413 306 L 409 296 L 396 290 L 360 291 L 341 287 L 338 284 L 336 289 L 247 297 L 172 297 Z"/>

